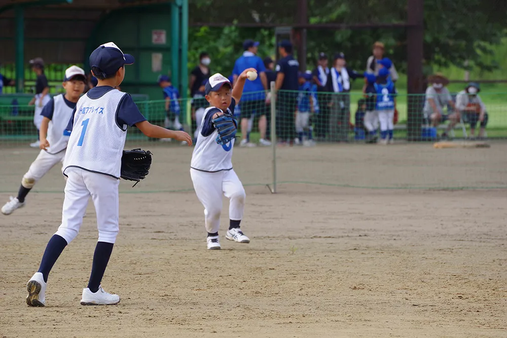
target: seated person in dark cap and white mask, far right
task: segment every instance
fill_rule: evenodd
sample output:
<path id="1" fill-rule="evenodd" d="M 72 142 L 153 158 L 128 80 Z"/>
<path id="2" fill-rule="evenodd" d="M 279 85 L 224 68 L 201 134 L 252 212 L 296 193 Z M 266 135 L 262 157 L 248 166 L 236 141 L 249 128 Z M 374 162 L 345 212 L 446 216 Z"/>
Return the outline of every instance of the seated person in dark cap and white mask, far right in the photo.
<path id="1" fill-rule="evenodd" d="M 481 88 L 478 83 L 469 83 L 464 90 L 456 96 L 456 108 L 461 111 L 466 121 L 470 124 L 470 137 L 475 137 L 477 122 L 481 122 L 479 138 L 484 137 L 486 125 L 488 124 L 488 113 L 486 106 L 479 96 Z"/>

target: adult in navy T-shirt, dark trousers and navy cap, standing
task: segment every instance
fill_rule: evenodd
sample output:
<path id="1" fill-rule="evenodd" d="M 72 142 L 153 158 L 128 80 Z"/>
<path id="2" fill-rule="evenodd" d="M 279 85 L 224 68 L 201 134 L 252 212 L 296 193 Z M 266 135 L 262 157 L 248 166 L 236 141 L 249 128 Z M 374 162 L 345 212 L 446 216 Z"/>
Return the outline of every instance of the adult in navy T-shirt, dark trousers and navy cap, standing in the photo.
<path id="1" fill-rule="evenodd" d="M 276 134 L 282 144 L 292 144 L 296 137 L 294 112 L 298 98 L 299 62 L 292 56 L 292 44 L 283 40 L 278 44 L 281 59 L 276 65 Z"/>

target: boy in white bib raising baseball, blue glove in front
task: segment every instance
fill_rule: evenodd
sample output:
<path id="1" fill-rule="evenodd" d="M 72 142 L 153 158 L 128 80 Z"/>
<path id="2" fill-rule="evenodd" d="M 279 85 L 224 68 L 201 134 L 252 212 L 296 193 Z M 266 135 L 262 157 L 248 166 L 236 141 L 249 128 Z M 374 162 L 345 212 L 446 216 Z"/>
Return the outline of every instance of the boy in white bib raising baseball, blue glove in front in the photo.
<path id="1" fill-rule="evenodd" d="M 256 70 L 243 70 L 234 88 L 226 77 L 218 73 L 211 76 L 206 83 L 205 93 L 209 107 L 204 111 L 197 135 L 190 176 L 197 198 L 204 206 L 209 250 L 221 248 L 219 229 L 223 195 L 230 200 L 230 221 L 226 238 L 238 243 L 250 243 L 250 239 L 240 230 L 245 208 L 245 190 L 232 168 L 231 160 L 237 130 L 234 106 L 241 99 L 247 78 L 255 80 Z"/>

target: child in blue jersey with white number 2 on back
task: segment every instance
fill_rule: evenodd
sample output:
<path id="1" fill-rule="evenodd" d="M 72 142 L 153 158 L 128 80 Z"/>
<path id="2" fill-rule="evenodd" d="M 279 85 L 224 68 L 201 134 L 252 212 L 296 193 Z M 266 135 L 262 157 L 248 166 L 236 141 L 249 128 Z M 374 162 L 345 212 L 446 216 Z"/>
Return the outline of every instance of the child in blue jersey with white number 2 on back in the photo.
<path id="1" fill-rule="evenodd" d="M 380 144 L 393 143 L 394 97 L 397 94 L 394 83 L 389 79 L 389 69 L 381 68 L 375 83 L 377 93 L 375 109 L 380 121 Z"/>

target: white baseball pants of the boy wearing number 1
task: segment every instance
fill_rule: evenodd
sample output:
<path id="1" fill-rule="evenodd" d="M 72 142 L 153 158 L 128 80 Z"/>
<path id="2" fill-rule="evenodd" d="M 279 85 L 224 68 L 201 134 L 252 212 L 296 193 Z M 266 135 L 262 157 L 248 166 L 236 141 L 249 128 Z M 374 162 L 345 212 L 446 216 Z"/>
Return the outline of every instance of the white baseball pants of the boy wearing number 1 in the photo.
<path id="1" fill-rule="evenodd" d="M 90 196 L 97 213 L 98 241 L 115 243 L 119 231 L 120 180 L 111 176 L 68 168 L 63 200 L 62 223 L 55 235 L 69 244 L 79 233 Z"/>

